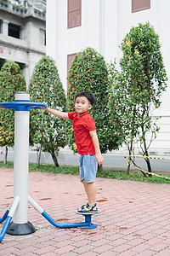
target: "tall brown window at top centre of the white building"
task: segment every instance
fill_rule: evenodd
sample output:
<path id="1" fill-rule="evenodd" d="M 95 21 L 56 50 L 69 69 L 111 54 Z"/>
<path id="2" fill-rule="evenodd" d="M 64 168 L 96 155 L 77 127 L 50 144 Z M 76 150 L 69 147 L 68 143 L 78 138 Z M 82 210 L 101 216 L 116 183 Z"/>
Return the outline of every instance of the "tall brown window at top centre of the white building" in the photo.
<path id="1" fill-rule="evenodd" d="M 68 0 L 68 28 L 81 26 L 81 0 Z"/>

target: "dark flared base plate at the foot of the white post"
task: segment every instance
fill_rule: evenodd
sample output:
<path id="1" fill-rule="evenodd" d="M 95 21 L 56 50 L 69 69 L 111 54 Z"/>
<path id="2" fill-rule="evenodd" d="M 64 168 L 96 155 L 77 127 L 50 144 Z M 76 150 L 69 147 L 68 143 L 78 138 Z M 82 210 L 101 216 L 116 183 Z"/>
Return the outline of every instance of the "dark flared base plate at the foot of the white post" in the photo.
<path id="1" fill-rule="evenodd" d="M 7 234 L 13 236 L 29 235 L 36 231 L 35 227 L 28 221 L 25 224 L 15 224 L 11 222 L 8 226 Z"/>

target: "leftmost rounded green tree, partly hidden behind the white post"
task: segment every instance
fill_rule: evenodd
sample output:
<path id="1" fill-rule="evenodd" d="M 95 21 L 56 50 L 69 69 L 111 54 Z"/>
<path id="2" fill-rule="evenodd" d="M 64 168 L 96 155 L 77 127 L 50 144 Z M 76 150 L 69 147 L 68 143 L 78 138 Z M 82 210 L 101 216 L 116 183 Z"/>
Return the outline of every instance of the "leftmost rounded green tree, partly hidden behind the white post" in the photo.
<path id="1" fill-rule="evenodd" d="M 0 102 L 14 102 L 18 91 L 26 91 L 23 72 L 18 64 L 6 62 L 0 72 Z M 0 113 L 0 146 L 5 147 L 6 164 L 8 147 L 14 146 L 14 110 L 0 108 Z"/>

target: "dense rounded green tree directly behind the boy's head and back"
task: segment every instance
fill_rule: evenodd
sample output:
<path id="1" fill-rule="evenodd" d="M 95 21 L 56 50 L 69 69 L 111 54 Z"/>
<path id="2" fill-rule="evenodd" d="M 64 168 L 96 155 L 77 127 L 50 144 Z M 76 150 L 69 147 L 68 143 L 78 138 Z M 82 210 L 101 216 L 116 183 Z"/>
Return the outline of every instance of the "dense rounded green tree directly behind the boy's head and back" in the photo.
<path id="1" fill-rule="evenodd" d="M 118 148 L 119 137 L 113 133 L 108 111 L 108 70 L 104 57 L 92 48 L 78 53 L 71 63 L 68 75 L 67 110 L 74 111 L 75 96 L 86 90 L 94 94 L 96 104 L 90 110 L 93 116 L 100 143 L 101 153 Z M 66 123 L 67 142 L 74 152 L 77 152 L 72 122 Z"/>

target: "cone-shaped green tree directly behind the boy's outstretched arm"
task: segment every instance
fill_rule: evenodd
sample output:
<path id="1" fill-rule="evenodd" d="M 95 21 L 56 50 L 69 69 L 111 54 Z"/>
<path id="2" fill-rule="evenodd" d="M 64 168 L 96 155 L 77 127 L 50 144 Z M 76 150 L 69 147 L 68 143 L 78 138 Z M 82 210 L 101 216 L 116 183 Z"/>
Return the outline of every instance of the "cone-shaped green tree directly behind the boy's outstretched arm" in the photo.
<path id="1" fill-rule="evenodd" d="M 48 108 L 65 111 L 65 91 L 59 79 L 54 60 L 47 55 L 37 63 L 29 84 L 31 102 L 46 102 Z M 56 154 L 65 147 L 65 120 L 41 110 L 31 110 L 30 143 L 40 145 L 52 155 L 54 165 L 59 166 Z"/>

